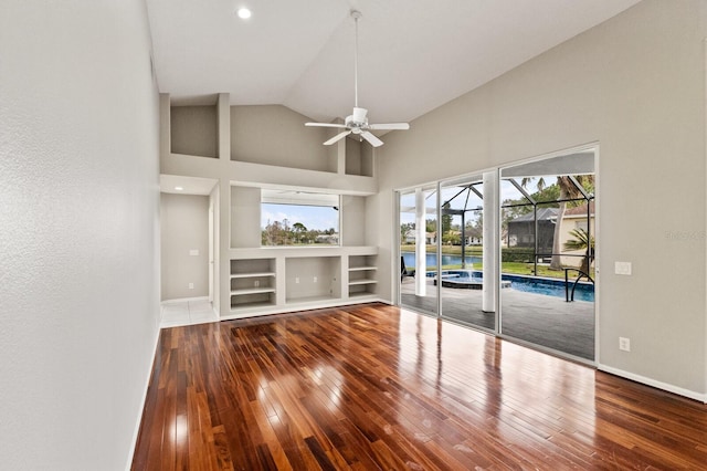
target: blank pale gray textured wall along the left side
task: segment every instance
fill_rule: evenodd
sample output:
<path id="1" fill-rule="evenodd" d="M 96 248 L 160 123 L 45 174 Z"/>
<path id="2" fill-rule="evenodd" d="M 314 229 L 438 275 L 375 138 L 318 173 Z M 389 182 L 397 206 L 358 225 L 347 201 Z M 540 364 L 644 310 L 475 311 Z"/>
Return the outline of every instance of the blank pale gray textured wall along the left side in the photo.
<path id="1" fill-rule="evenodd" d="M 145 2 L 0 6 L 0 463 L 129 467 L 159 332 Z"/>

